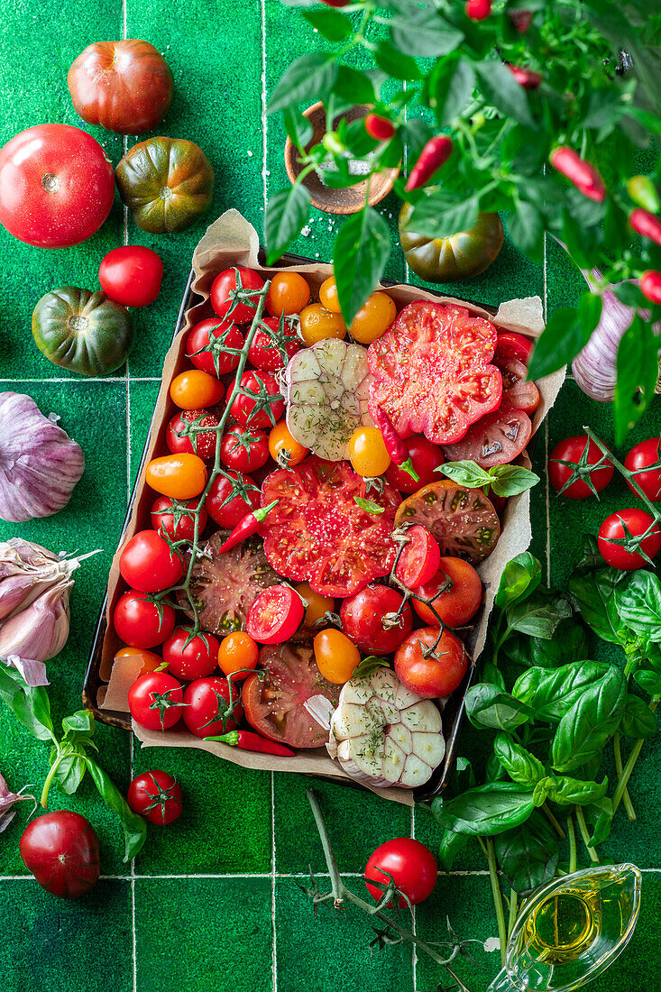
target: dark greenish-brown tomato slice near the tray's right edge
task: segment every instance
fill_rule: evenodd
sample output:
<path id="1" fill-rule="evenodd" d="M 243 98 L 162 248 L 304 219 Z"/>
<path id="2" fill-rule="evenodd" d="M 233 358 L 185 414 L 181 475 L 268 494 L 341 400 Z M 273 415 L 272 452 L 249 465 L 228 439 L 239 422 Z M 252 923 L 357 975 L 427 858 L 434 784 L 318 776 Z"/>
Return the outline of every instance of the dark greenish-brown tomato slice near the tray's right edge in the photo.
<path id="1" fill-rule="evenodd" d="M 489 498 L 481 489 L 450 479 L 432 482 L 405 499 L 395 516 L 395 525 L 401 524 L 421 524 L 436 538 L 442 555 L 471 564 L 490 555 L 500 537 L 500 521 Z"/>

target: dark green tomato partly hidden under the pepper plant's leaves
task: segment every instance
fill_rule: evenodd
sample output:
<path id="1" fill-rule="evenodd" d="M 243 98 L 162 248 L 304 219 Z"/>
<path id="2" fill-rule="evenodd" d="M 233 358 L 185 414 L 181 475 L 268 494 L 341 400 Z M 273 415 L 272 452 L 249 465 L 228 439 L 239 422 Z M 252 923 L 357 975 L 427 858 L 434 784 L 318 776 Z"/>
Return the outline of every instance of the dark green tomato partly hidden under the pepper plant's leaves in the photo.
<path id="1" fill-rule="evenodd" d="M 471 279 L 497 258 L 503 239 L 502 221 L 497 213 L 480 213 L 474 227 L 450 238 L 428 238 L 405 229 L 412 212 L 412 205 L 404 203 L 399 213 L 399 240 L 416 276 L 428 283 Z"/>

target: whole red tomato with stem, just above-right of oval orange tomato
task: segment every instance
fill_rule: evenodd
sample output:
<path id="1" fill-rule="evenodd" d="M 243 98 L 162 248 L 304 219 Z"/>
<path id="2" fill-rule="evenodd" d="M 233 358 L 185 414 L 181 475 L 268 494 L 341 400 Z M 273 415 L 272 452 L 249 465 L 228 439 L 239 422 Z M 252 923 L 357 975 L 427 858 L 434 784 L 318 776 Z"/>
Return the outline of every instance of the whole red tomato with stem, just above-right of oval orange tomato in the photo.
<path id="1" fill-rule="evenodd" d="M 403 596 L 389 585 L 367 585 L 342 600 L 342 630 L 366 654 L 389 655 L 411 633 L 413 614 L 407 603 L 395 623 Z M 392 626 L 390 621 L 393 621 Z"/>

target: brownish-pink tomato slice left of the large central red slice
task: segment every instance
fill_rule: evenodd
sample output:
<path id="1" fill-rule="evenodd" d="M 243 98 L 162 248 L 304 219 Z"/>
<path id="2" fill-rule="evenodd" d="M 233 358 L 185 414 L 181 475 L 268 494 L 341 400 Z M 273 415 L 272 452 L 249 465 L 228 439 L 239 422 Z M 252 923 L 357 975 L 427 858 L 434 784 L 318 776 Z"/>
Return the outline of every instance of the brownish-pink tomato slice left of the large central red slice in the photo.
<path id="1" fill-rule="evenodd" d="M 202 630 L 210 634 L 244 630 L 248 610 L 262 589 L 282 581 L 267 561 L 257 538 L 221 555 L 220 545 L 228 535 L 226 530 L 212 534 L 202 549 L 203 557 L 193 568 L 191 594 L 199 610 Z M 193 619 L 186 592 L 180 590 L 177 595 L 181 608 Z"/>

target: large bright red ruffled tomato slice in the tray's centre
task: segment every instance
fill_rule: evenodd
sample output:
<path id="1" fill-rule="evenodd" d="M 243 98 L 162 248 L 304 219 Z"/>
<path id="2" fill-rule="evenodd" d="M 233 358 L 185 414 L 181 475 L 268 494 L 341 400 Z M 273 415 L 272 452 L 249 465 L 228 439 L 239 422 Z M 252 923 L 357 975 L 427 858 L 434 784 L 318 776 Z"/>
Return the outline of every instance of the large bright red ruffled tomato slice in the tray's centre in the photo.
<path id="1" fill-rule="evenodd" d="M 266 557 L 281 575 L 326 596 L 349 596 L 387 575 L 399 495 L 386 482 L 382 493 L 369 493 L 372 510 L 356 503 L 365 498 L 364 481 L 345 461 L 312 455 L 276 469 L 262 483 L 262 506 L 278 501 L 260 530 Z"/>

